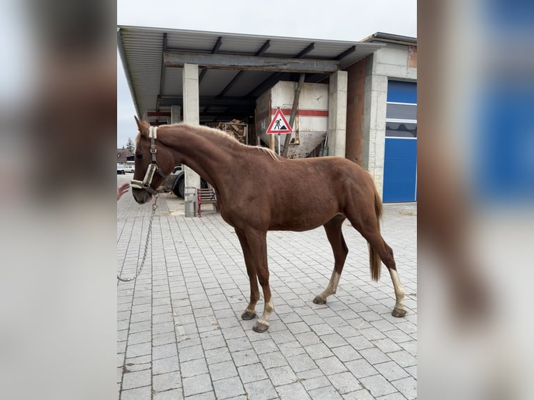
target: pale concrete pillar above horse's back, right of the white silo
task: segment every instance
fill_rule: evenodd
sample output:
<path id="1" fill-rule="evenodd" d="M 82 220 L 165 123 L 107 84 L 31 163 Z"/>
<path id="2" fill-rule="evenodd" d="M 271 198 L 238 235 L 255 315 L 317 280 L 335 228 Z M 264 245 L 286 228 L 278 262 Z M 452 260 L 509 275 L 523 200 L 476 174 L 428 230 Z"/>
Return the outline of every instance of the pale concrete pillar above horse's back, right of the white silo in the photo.
<path id="1" fill-rule="evenodd" d="M 347 72 L 330 75 L 328 86 L 328 155 L 345 157 Z"/>

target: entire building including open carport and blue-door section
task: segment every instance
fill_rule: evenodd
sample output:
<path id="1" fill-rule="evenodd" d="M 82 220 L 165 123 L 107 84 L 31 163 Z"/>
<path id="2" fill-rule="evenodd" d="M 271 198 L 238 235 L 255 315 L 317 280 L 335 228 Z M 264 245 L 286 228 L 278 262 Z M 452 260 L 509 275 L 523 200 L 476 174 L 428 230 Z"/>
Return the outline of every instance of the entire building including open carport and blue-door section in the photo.
<path id="1" fill-rule="evenodd" d="M 346 42 L 135 26 L 117 33 L 139 118 L 154 125 L 237 118 L 252 127 L 247 143 L 274 146 L 266 121 L 277 107 L 289 121 L 303 79 L 289 155 L 321 155 L 326 139 L 329 155 L 374 176 L 384 201 L 416 200 L 415 38 L 375 33 Z M 199 187 L 194 172 L 185 179 Z"/>

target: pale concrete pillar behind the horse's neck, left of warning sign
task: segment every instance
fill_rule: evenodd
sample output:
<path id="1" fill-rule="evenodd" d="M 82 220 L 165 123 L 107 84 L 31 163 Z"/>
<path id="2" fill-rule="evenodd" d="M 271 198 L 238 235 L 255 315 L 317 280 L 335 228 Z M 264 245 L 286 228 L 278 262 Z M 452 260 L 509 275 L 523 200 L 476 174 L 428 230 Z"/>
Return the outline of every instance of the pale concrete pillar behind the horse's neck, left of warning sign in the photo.
<path id="1" fill-rule="evenodd" d="M 199 116 L 199 66 L 183 66 L 183 122 L 198 125 Z M 200 187 L 200 176 L 189 167 L 184 168 L 185 187 Z"/>

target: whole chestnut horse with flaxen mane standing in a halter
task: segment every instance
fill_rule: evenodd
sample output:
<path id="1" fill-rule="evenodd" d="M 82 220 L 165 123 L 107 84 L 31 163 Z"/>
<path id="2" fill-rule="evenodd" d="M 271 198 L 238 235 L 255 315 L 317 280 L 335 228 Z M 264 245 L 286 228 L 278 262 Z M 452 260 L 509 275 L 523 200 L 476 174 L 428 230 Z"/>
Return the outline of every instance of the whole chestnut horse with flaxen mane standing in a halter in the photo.
<path id="1" fill-rule="evenodd" d="M 257 316 L 258 281 L 264 293 L 264 314 L 254 325 L 255 332 L 268 329 L 274 311 L 267 231 L 324 226 L 334 252 L 334 270 L 313 302 L 325 304 L 336 292 L 349 252 L 342 233 L 345 219 L 367 240 L 372 279 L 379 279 L 381 261 L 390 272 L 396 298 L 392 315 L 406 314 L 393 252 L 380 233 L 382 202 L 372 177 L 358 164 L 342 157 L 288 160 L 266 148 L 245 146 L 220 130 L 185 123 L 154 128 L 135 121 L 139 127 L 131 184 L 135 200 L 150 201 L 176 164 L 187 165 L 213 186 L 222 219 L 236 230 L 250 279 L 250 302 L 241 318 Z"/>

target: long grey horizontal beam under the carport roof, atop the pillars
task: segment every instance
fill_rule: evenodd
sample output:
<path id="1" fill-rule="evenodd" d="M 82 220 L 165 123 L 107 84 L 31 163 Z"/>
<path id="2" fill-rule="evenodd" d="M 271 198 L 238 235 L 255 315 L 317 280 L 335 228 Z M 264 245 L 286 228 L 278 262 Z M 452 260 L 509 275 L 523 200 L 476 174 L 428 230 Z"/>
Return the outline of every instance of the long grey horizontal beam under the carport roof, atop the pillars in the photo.
<path id="1" fill-rule="evenodd" d="M 184 64 L 197 64 L 202 68 L 221 70 L 252 70 L 272 72 L 322 72 L 332 73 L 340 70 L 339 61 L 316 59 L 284 59 L 264 56 L 238 56 L 234 54 L 206 54 L 171 52 L 163 53 L 167 67 L 183 67 Z"/>

